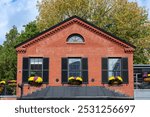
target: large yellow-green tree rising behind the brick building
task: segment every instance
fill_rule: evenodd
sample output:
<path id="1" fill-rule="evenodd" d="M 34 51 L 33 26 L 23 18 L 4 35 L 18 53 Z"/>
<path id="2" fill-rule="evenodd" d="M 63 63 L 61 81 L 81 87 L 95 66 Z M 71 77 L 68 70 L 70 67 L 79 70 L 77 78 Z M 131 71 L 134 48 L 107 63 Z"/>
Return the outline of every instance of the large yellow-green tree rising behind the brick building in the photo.
<path id="1" fill-rule="evenodd" d="M 147 63 L 150 23 L 147 11 L 128 0 L 41 0 L 37 26 L 40 31 L 77 15 L 137 46 L 134 63 Z M 145 25 L 147 24 L 147 25 Z M 142 43 L 142 44 L 141 44 Z"/>

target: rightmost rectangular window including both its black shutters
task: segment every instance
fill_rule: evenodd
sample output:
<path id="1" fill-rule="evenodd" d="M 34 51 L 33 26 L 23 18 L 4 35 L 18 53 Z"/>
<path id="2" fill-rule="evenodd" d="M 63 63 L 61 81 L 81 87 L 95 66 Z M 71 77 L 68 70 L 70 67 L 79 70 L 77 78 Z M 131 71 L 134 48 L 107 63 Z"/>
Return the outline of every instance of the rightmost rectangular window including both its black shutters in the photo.
<path id="1" fill-rule="evenodd" d="M 128 83 L 128 58 L 102 58 L 102 83 L 107 84 L 110 76 L 121 76 Z"/>

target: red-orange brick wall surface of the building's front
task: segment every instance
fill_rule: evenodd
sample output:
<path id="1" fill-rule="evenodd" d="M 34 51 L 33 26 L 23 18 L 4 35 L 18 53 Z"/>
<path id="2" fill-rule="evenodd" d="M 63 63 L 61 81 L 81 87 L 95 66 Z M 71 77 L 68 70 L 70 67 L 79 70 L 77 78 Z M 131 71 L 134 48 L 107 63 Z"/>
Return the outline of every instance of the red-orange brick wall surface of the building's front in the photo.
<path id="1" fill-rule="evenodd" d="M 82 44 L 69 44 L 66 39 L 69 35 L 78 33 L 85 39 Z M 133 96 L 133 53 L 125 53 L 124 47 L 110 41 L 107 37 L 97 35 L 76 23 L 58 31 L 57 33 L 44 38 L 37 43 L 33 43 L 26 48 L 26 53 L 18 53 L 17 83 L 22 82 L 22 58 L 23 57 L 49 57 L 50 73 L 49 86 L 61 86 L 61 58 L 62 57 L 87 57 L 88 58 L 88 86 L 106 86 L 110 89 Z M 129 84 L 119 87 L 110 87 L 101 83 L 101 58 L 102 57 L 128 57 Z M 94 78 L 95 81 L 91 82 Z M 56 82 L 59 79 L 59 82 Z M 44 86 L 45 87 L 45 86 Z M 37 90 L 24 86 L 24 94 Z M 39 89 L 38 89 L 39 90 Z M 17 96 L 20 89 L 17 88 Z"/>

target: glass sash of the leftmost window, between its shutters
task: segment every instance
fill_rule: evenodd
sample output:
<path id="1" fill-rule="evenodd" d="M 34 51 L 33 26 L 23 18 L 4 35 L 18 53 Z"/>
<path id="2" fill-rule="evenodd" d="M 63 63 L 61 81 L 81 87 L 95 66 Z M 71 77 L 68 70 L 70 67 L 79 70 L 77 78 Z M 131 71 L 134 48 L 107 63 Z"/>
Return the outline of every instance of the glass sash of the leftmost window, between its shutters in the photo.
<path id="1" fill-rule="evenodd" d="M 30 58 L 30 70 L 29 76 L 40 76 L 42 77 L 43 73 L 43 59 L 42 58 Z"/>

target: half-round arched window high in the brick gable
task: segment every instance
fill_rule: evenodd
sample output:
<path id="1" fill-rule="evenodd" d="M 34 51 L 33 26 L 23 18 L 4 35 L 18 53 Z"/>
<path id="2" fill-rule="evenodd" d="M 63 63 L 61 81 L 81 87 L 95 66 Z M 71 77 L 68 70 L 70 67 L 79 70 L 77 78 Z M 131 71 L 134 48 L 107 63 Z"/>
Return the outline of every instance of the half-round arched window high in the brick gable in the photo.
<path id="1" fill-rule="evenodd" d="M 68 37 L 67 42 L 68 43 L 83 43 L 84 39 L 79 34 L 72 34 Z"/>

